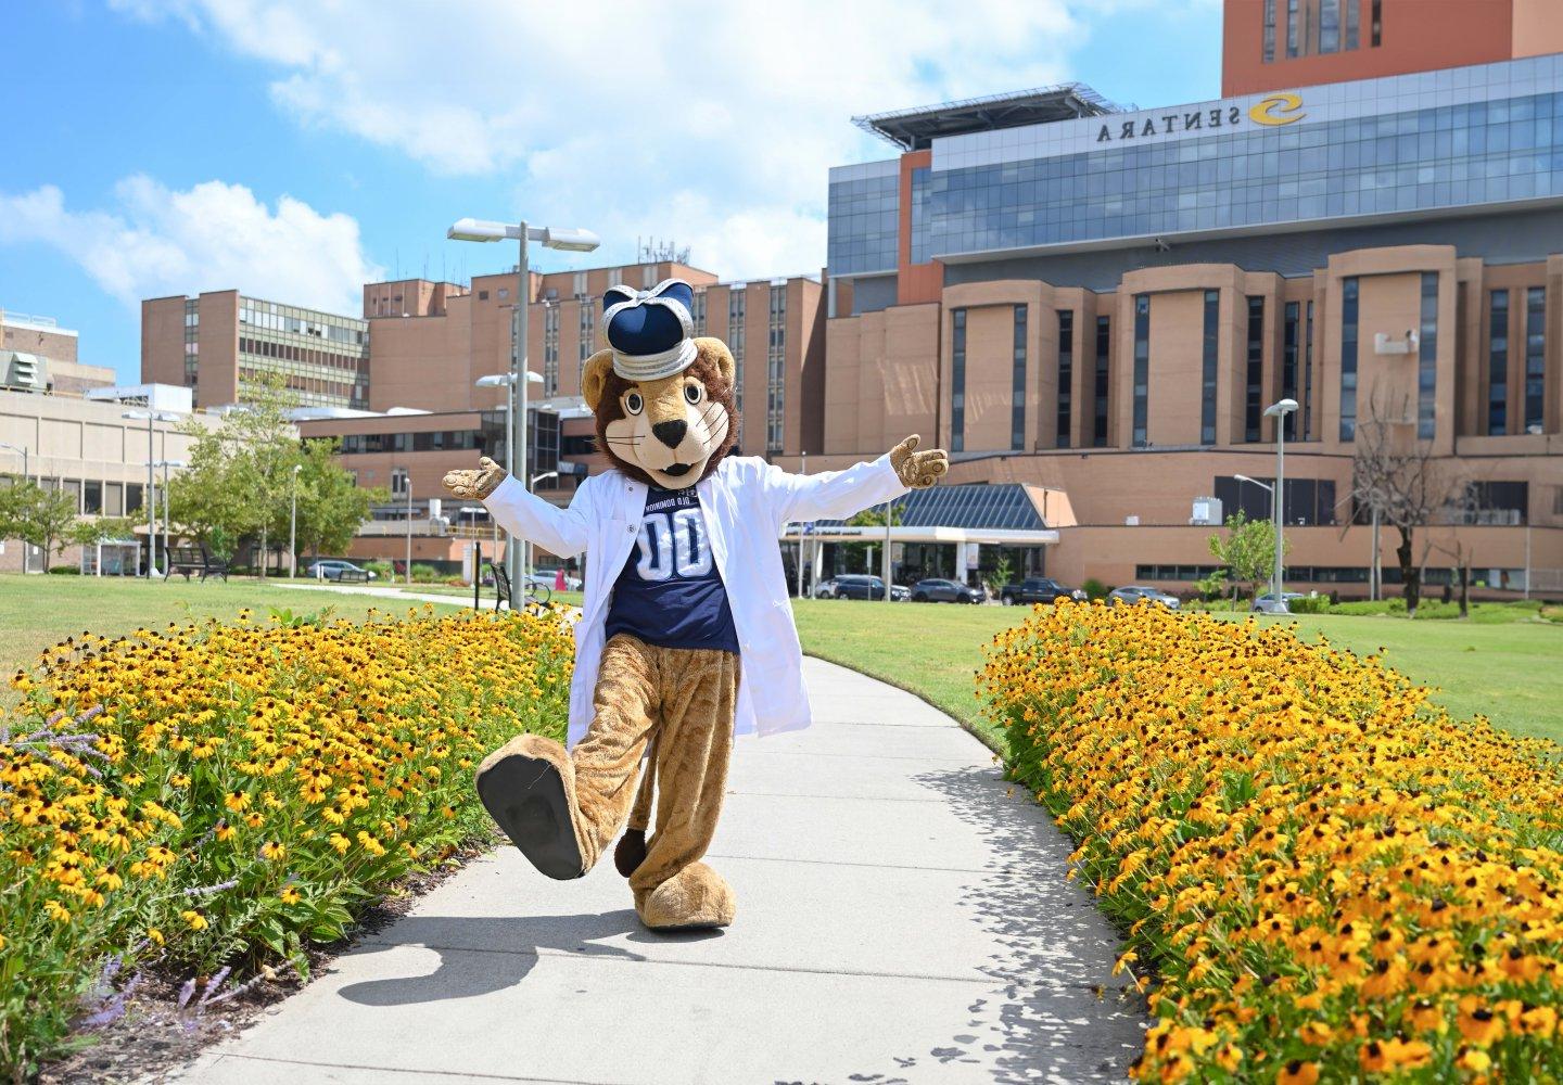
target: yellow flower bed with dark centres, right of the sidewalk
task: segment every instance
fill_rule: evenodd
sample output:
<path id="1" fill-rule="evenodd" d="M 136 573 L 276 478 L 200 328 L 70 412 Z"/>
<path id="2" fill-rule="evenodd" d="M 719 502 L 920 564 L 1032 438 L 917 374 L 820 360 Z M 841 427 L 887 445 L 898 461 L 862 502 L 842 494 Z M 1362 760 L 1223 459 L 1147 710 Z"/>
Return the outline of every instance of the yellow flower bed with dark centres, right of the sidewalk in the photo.
<path id="1" fill-rule="evenodd" d="M 1038 608 L 980 683 L 1152 969 L 1139 1079 L 1560 1080 L 1557 746 L 1149 605 Z"/>

